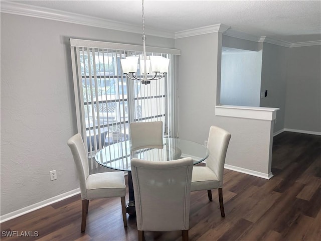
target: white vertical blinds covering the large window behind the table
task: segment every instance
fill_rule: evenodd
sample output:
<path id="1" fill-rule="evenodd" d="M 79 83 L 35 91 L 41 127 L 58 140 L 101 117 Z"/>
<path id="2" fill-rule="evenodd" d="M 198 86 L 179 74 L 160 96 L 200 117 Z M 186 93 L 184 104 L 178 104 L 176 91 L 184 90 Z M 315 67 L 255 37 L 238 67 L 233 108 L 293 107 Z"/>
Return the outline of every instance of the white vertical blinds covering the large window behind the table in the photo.
<path id="1" fill-rule="evenodd" d="M 88 148 L 91 170 L 97 168 L 98 150 L 129 139 L 130 122 L 163 121 L 164 135 L 177 136 L 178 50 L 150 48 L 147 56 L 170 59 L 169 73 L 141 84 L 127 79 L 120 65 L 126 56 L 142 58 L 141 46 L 76 39 L 70 44 L 77 128 Z"/>

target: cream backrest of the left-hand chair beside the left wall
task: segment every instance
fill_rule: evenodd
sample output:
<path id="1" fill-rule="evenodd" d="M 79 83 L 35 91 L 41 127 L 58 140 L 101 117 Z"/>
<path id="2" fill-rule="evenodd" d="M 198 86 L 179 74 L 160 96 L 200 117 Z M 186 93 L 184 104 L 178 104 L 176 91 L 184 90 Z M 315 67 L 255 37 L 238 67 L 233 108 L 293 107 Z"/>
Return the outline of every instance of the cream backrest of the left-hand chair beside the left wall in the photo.
<path id="1" fill-rule="evenodd" d="M 87 149 L 79 133 L 71 137 L 67 144 L 77 167 L 81 199 L 86 199 L 86 179 L 89 176 Z"/>

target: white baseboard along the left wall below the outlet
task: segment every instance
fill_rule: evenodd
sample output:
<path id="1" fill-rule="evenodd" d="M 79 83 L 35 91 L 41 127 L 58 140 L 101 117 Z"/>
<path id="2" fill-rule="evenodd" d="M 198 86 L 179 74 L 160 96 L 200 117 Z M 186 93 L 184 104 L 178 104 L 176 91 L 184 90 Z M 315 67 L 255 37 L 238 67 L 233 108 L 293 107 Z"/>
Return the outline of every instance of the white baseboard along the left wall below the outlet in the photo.
<path id="1" fill-rule="evenodd" d="M 19 216 L 22 216 L 22 215 L 27 214 L 29 212 L 35 211 L 35 210 L 40 209 L 42 207 L 48 206 L 52 203 L 59 202 L 59 201 L 64 200 L 66 198 L 75 196 L 79 193 L 80 193 L 80 188 L 77 188 L 77 189 L 71 190 L 69 192 L 65 192 L 63 194 L 60 194 L 58 196 L 49 198 L 47 200 L 32 204 L 28 207 L 24 207 L 19 210 L 2 215 L 2 216 L 0 216 L 0 223 L 8 221 L 8 220 L 16 218 L 16 217 L 19 217 Z"/>

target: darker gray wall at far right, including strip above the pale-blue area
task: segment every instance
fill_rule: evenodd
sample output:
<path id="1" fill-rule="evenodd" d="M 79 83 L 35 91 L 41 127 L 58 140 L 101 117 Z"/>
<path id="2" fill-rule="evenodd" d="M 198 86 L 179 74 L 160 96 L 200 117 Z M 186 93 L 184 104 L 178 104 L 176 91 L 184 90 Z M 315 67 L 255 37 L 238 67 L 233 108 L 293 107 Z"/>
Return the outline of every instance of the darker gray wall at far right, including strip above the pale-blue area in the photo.
<path id="1" fill-rule="evenodd" d="M 321 133 L 320 45 L 288 48 L 225 35 L 222 44 L 229 48 L 262 50 L 260 92 L 268 90 L 268 94 L 260 99 L 260 106 L 280 108 L 274 133 L 284 129 Z"/>

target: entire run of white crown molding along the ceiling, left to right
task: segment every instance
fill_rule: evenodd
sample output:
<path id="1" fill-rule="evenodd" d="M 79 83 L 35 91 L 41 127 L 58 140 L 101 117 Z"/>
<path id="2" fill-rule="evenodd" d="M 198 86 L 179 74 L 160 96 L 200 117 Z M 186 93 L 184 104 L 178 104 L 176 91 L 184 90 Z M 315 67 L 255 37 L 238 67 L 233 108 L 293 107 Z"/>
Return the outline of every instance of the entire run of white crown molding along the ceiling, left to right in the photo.
<path id="1" fill-rule="evenodd" d="M 111 29 L 116 31 L 123 31 L 129 33 L 141 34 L 141 26 L 124 24 L 116 21 L 109 21 L 100 18 L 94 18 L 89 16 L 83 16 L 79 14 L 73 14 L 70 12 L 47 9 L 37 6 L 30 6 L 26 4 L 14 3 L 14 2 L 6 2 L 2 1 L 0 4 L 0 12 L 6 14 L 15 14 L 22 15 L 34 18 L 42 18 L 54 21 L 61 21 L 72 24 L 80 24 L 97 28 Z M 191 37 L 202 34 L 216 33 L 220 32 L 223 35 L 231 36 L 234 38 L 254 41 L 254 42 L 265 42 L 270 44 L 275 44 L 283 47 L 304 47 L 304 46 L 313 46 L 313 45 L 321 45 L 321 41 L 309 41 L 309 42 L 300 42 L 300 43 L 290 43 L 286 41 L 276 40 L 267 36 L 257 37 L 250 34 L 246 34 L 243 32 L 239 32 L 231 29 L 230 26 L 224 24 L 216 24 L 205 26 L 201 28 L 190 29 L 186 31 L 180 31 L 176 33 L 167 32 L 167 31 L 159 31 L 154 29 L 146 28 L 147 35 L 163 37 L 163 38 L 171 38 L 171 39 L 179 39 L 185 37 Z"/>

